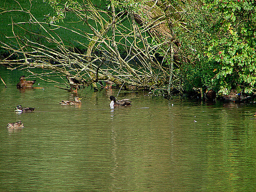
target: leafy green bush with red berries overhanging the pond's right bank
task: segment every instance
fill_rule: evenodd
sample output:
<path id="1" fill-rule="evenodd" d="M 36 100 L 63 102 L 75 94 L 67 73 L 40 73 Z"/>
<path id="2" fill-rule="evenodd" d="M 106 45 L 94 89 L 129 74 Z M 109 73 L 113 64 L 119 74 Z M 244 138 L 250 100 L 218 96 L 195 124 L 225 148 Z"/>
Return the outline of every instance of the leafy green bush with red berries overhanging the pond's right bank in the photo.
<path id="1" fill-rule="evenodd" d="M 253 1 L 205 1 L 197 12 L 193 9 L 193 14 L 186 16 L 190 32 L 180 37 L 185 39 L 190 35 L 190 41 L 182 42 L 195 50 L 194 53 L 184 50 L 195 63 L 195 66 L 184 67 L 190 81 L 202 87 L 215 87 L 223 94 L 233 88 L 253 92 L 256 85 L 255 8 Z"/>

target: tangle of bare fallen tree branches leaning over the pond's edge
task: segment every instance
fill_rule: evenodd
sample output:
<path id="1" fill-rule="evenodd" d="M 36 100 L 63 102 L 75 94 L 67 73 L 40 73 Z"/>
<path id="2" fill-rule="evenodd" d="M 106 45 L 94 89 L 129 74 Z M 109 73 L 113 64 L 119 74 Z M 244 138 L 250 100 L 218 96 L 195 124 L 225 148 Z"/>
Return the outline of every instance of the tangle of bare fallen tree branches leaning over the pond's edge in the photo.
<path id="1" fill-rule="evenodd" d="M 53 72 L 51 75 L 69 75 L 81 80 L 84 86 L 93 86 L 95 91 L 99 81 L 111 81 L 124 89 L 166 86 L 168 92 L 170 85 L 174 87 L 175 82 L 178 82 L 179 78 L 173 74 L 173 59 L 172 67 L 165 64 L 167 57 L 174 57 L 174 48 L 170 49 L 173 39 L 163 35 L 161 38 L 152 33 L 154 27 L 159 28 L 163 23 L 159 18 L 148 24 L 140 21 L 141 25 L 138 26 L 133 13 L 116 13 L 114 5 L 109 12 L 103 12 L 91 3 L 83 6 L 77 4 L 67 11 L 76 15 L 76 23 L 80 23 L 82 29 L 87 29 L 82 30 L 38 21 L 30 10 L 23 8 L 1 14 L 14 11 L 23 12 L 30 19 L 19 23 L 13 20 L 10 24 L 13 36 L 8 38 L 12 43 L 0 42 L 1 48 L 11 54 L 1 64 L 47 69 Z M 138 16 L 136 18 L 138 22 Z M 29 30 L 26 26 L 37 27 L 40 33 Z M 78 35 L 80 38 L 75 41 L 86 51 L 76 50 L 59 35 L 59 30 L 65 30 L 71 36 Z M 165 53 L 161 60 L 156 56 L 159 51 Z M 13 56 L 15 59 L 12 59 Z"/>

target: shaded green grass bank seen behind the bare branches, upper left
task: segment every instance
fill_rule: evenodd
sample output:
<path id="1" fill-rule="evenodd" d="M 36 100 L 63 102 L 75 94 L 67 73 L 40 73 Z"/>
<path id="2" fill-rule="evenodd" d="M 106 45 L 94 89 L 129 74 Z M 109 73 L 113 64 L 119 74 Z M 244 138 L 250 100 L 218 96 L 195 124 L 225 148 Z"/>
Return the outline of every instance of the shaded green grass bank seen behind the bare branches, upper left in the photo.
<path id="1" fill-rule="evenodd" d="M 38 22 L 46 22 L 46 20 L 44 20 L 45 19 L 44 15 L 47 15 L 49 13 L 53 15 L 53 9 L 50 7 L 50 5 L 47 2 L 44 3 L 43 0 L 31 0 L 32 2 L 31 8 L 28 0 L 18 0 L 20 6 L 14 0 L 2 0 L 2 1 L 4 1 L 2 4 L 0 4 L 0 8 L 2 9 L 2 11 L 3 10 L 20 10 L 21 9 L 20 6 L 21 6 L 24 10 L 30 9 L 31 13 L 38 20 Z M 79 1 L 82 2 L 82 0 L 79 0 Z M 94 5 L 96 4 L 97 7 L 101 7 L 102 9 L 105 8 L 106 6 L 105 3 L 106 1 L 97 1 L 97 0 L 93 1 Z M 13 23 L 28 22 L 29 19 L 30 19 L 29 14 L 18 12 L 18 11 L 0 14 L 0 40 L 3 42 L 6 42 L 7 44 L 16 45 L 16 39 L 12 38 L 14 34 L 13 34 L 11 24 L 12 22 Z M 86 24 L 83 24 L 82 22 L 78 22 L 78 18 L 73 13 L 69 13 L 69 12 L 67 13 L 66 18 L 63 20 L 63 22 L 57 23 L 57 25 L 61 25 L 63 27 L 78 31 L 79 33 L 91 33 L 91 34 L 93 33 Z M 95 23 L 93 20 L 91 20 L 91 25 L 95 26 Z M 129 21 L 126 20 L 124 25 L 129 28 L 130 27 Z M 26 28 L 27 30 L 35 34 L 47 36 L 47 33 L 38 25 L 21 24 L 20 26 L 23 28 Z M 44 25 L 44 27 L 46 29 L 55 28 L 54 26 L 49 26 L 49 25 Z M 124 31 L 122 32 L 125 33 Z M 30 33 L 20 29 L 17 26 L 14 27 L 14 33 L 18 34 L 20 38 L 23 38 L 26 36 L 28 39 L 35 41 L 38 44 L 48 46 L 50 48 L 56 48 L 57 46 L 56 44 L 49 44 L 49 42 L 45 38 L 31 35 Z M 65 29 L 57 29 L 57 30 L 54 30 L 54 32 L 51 32 L 51 34 L 58 40 L 59 38 L 55 33 L 61 37 L 61 39 L 63 40 L 66 46 L 75 47 L 82 51 L 87 50 L 85 46 L 81 46 L 76 41 L 79 41 L 84 45 L 88 45 L 90 39 L 87 39 L 78 34 L 72 33 Z M 112 32 L 109 31 L 108 36 L 111 36 L 111 35 L 112 35 Z M 6 37 L 9 37 L 9 38 L 6 38 Z M 118 39 L 121 39 L 121 38 L 122 36 L 117 37 L 116 40 L 118 41 Z M 129 40 L 133 41 L 133 39 L 129 39 Z M 122 40 L 121 42 L 124 44 L 124 40 Z M 119 48 L 123 49 L 122 46 L 119 46 Z M 1 50 L 0 50 L 0 54 L 1 54 Z"/>

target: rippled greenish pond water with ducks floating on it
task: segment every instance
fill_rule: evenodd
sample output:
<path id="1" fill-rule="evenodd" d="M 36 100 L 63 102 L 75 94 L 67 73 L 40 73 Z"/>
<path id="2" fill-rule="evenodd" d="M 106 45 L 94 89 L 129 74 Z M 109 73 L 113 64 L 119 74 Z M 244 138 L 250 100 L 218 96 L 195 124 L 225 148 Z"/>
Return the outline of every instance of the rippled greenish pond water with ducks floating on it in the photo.
<path id="1" fill-rule="evenodd" d="M 0 191 L 255 191 L 255 105 L 191 102 L 119 90 L 75 95 L 0 66 Z M 28 73 L 25 73 L 28 76 Z M 38 85 L 39 83 L 39 85 Z M 16 114 L 21 104 L 33 113 Z M 9 122 L 24 128 L 8 131 Z"/>

